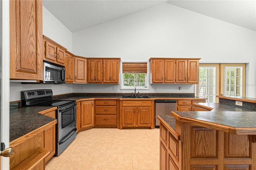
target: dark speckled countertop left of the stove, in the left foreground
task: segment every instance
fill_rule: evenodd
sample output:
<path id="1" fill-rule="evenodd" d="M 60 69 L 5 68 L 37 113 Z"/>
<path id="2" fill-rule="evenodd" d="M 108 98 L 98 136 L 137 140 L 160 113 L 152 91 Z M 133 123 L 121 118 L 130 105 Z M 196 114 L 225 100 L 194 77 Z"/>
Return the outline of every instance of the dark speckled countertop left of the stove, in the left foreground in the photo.
<path id="1" fill-rule="evenodd" d="M 10 142 L 55 119 L 38 112 L 52 107 L 21 107 L 10 109 Z"/>

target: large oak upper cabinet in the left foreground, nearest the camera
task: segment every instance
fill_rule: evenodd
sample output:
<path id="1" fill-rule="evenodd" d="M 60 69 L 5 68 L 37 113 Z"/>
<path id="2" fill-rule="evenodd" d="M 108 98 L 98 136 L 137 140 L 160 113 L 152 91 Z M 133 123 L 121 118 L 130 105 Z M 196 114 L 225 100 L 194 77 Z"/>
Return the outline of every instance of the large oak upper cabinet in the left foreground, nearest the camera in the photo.
<path id="1" fill-rule="evenodd" d="M 43 79 L 42 1 L 10 0 L 10 79 Z"/>

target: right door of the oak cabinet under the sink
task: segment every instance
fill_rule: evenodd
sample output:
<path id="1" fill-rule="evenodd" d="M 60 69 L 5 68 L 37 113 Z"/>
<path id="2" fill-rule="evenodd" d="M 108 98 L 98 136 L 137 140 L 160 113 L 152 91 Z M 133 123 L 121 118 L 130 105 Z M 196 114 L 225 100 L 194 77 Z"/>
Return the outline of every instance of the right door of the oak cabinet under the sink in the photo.
<path id="1" fill-rule="evenodd" d="M 151 119 L 151 107 L 138 107 L 138 127 L 150 127 Z"/>

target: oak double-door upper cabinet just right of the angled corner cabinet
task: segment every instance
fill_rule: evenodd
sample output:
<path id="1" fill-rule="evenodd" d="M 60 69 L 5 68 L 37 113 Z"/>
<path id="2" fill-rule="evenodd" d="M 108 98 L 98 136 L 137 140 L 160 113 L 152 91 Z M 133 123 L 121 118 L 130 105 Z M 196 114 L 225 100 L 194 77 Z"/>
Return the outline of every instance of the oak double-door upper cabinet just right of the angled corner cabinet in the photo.
<path id="1" fill-rule="evenodd" d="M 88 59 L 88 83 L 102 83 L 102 59 Z"/>

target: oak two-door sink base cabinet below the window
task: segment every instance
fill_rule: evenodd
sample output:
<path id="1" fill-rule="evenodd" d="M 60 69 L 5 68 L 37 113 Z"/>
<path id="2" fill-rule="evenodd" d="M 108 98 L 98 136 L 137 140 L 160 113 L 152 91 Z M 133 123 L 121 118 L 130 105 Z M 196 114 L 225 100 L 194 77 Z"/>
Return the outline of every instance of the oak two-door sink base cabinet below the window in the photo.
<path id="1" fill-rule="evenodd" d="M 153 100 L 122 100 L 120 108 L 120 129 L 155 128 Z"/>

